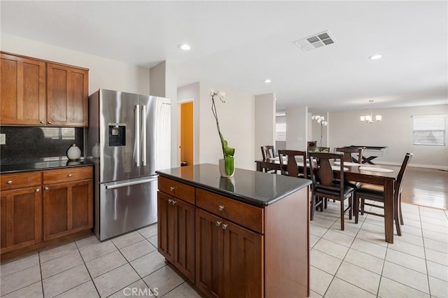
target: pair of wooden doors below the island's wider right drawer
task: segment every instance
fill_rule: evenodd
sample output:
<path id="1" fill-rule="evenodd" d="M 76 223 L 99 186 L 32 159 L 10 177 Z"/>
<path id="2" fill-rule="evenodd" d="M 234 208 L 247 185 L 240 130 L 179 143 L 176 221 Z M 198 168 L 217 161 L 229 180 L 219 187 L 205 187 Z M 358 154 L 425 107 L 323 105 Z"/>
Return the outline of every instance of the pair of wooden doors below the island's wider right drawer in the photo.
<path id="1" fill-rule="evenodd" d="M 209 297 L 262 297 L 263 236 L 196 209 L 196 285 Z"/>

